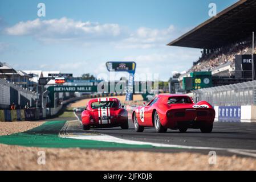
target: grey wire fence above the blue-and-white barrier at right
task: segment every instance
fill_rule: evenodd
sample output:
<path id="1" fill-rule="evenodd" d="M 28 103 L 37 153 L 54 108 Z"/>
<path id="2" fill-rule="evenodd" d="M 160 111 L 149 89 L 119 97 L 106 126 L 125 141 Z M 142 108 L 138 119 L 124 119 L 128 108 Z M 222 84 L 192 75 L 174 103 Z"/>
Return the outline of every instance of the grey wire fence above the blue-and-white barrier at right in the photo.
<path id="1" fill-rule="evenodd" d="M 194 101 L 214 106 L 256 105 L 256 81 L 193 90 Z"/>

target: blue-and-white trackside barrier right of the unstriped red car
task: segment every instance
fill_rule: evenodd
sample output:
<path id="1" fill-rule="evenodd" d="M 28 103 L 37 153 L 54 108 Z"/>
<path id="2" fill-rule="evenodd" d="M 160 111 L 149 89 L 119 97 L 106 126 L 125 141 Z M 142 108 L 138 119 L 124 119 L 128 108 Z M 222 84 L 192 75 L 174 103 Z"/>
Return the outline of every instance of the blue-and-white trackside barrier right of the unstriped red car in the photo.
<path id="1" fill-rule="evenodd" d="M 256 106 L 214 106 L 219 122 L 255 122 Z"/>

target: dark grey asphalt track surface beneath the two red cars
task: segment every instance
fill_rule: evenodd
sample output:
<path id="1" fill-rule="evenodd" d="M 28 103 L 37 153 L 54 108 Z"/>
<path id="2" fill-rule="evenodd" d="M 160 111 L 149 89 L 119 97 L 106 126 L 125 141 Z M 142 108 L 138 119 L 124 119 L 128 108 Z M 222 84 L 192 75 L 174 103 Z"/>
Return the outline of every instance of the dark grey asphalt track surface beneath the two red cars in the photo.
<path id="1" fill-rule="evenodd" d="M 76 113 L 76 115 L 81 120 L 80 113 Z M 77 130 L 81 132 L 80 128 Z M 154 128 L 146 128 L 143 133 L 136 133 L 132 121 L 129 120 L 128 130 L 114 127 L 111 129 L 91 129 L 91 131 L 141 142 L 192 146 L 189 149 L 190 151 L 199 151 L 205 154 L 209 152 L 210 148 L 230 148 L 236 149 L 237 151 L 235 153 L 238 155 L 247 155 L 246 153 L 249 152 L 249 156 L 256 157 L 256 123 L 215 122 L 213 131 L 210 134 L 204 134 L 200 130 L 193 129 L 189 129 L 186 133 L 168 129 L 167 133 L 159 134 L 155 132 Z M 209 150 L 198 150 L 193 147 L 210 148 Z M 240 150 L 243 151 L 241 152 Z M 220 153 L 230 155 L 230 152 L 226 150 L 220 150 Z"/>

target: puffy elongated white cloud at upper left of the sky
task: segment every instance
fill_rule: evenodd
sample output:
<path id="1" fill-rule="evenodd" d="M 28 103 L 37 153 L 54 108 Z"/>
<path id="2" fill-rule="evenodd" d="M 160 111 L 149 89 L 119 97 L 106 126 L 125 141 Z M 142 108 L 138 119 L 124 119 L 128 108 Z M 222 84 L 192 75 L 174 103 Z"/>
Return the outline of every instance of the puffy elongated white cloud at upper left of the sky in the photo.
<path id="1" fill-rule="evenodd" d="M 5 29 L 8 35 L 34 36 L 44 41 L 116 38 L 121 33 L 118 24 L 75 21 L 68 18 L 28 20 Z"/>

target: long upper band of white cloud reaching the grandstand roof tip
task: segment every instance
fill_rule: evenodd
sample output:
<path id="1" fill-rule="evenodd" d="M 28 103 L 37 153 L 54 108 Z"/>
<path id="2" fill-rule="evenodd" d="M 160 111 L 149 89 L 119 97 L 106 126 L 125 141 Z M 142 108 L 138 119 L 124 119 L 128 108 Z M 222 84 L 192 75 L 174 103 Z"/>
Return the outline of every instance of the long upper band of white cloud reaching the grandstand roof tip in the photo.
<path id="1" fill-rule="evenodd" d="M 162 29 L 139 27 L 131 31 L 116 23 L 83 22 L 66 17 L 27 20 L 5 28 L 5 32 L 13 36 L 33 36 L 45 43 L 68 41 L 91 45 L 106 42 L 119 49 L 165 46 L 170 39 L 179 34 L 173 25 Z"/>

